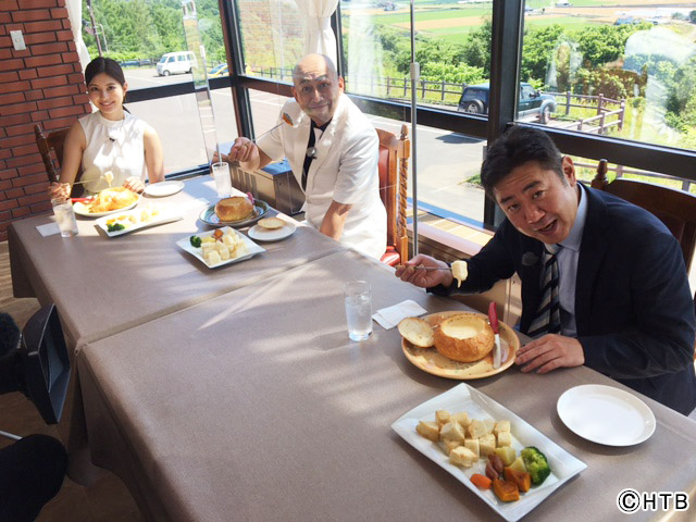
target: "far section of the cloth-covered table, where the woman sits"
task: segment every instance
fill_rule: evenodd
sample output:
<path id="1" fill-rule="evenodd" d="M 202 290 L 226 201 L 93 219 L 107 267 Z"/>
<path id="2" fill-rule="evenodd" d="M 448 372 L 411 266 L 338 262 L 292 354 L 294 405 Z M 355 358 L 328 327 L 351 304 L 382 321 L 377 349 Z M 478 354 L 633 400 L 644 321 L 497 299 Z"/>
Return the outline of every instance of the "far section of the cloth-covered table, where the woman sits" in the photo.
<path id="1" fill-rule="evenodd" d="M 78 339 L 113 335 L 344 248 L 298 223 L 286 240 L 259 244 L 266 251 L 253 262 L 209 269 L 176 241 L 213 229 L 200 217 L 219 199 L 209 175 L 187 179 L 172 196 L 145 195 L 136 209 L 157 204 L 181 219 L 115 237 L 82 215 L 78 235 L 70 238 L 38 232 L 52 214 L 15 221 L 8 228 L 14 296 L 54 302 L 74 348 Z"/>

